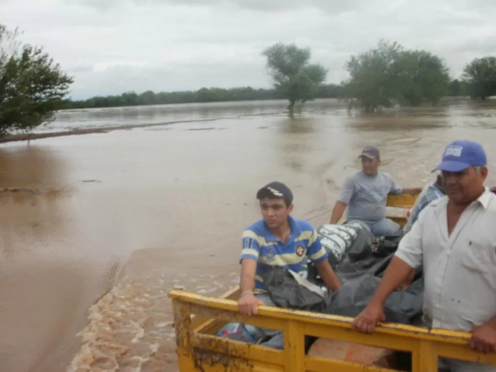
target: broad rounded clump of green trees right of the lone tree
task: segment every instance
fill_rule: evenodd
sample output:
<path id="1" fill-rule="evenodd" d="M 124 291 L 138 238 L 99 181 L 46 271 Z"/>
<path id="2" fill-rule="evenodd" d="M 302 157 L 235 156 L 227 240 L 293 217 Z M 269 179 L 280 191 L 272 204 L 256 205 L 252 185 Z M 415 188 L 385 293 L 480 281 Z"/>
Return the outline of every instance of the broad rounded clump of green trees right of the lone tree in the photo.
<path id="1" fill-rule="evenodd" d="M 436 55 L 405 50 L 397 42 L 380 40 L 377 47 L 351 56 L 344 82 L 348 98 L 357 99 L 366 112 L 395 103 L 436 105 L 447 93 L 449 70 Z"/>

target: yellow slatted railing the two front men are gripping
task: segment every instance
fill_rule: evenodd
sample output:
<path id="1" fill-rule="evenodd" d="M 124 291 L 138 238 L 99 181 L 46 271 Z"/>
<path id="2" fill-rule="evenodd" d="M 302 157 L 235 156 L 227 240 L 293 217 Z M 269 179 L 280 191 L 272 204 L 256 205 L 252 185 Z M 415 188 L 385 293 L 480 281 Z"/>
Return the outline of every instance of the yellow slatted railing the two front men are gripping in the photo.
<path id="1" fill-rule="evenodd" d="M 305 335 L 412 353 L 413 372 L 437 372 L 438 357 L 496 365 L 496 354 L 468 347 L 470 334 L 381 324 L 373 334 L 351 329 L 352 318 L 262 306 L 244 317 L 229 299 L 171 291 L 179 370 L 189 371 L 393 371 L 305 355 Z M 195 317 L 192 317 L 195 314 Z M 196 319 L 196 321 L 195 321 Z M 203 319 L 199 322 L 198 319 Z M 284 332 L 284 351 L 212 336 L 214 323 L 241 322 Z M 209 330 L 210 331 L 207 331 Z M 210 333 L 210 334 L 209 334 Z"/>

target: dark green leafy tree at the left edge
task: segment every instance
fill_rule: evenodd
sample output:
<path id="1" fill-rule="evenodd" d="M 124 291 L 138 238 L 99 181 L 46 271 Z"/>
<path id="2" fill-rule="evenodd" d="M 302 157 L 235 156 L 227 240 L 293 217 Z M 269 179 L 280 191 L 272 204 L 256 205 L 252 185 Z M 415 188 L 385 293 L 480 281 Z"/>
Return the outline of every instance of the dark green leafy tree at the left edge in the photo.
<path id="1" fill-rule="evenodd" d="M 49 121 L 73 82 L 42 48 L 18 36 L 0 25 L 0 136 Z"/>

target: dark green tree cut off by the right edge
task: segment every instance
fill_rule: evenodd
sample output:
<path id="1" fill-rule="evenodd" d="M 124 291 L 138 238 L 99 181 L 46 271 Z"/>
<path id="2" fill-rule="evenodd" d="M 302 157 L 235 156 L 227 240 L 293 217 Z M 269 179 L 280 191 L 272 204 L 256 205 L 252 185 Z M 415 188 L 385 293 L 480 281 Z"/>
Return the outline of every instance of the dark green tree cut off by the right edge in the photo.
<path id="1" fill-rule="evenodd" d="M 496 95 L 496 57 L 476 58 L 463 70 L 472 98 L 486 99 Z"/>

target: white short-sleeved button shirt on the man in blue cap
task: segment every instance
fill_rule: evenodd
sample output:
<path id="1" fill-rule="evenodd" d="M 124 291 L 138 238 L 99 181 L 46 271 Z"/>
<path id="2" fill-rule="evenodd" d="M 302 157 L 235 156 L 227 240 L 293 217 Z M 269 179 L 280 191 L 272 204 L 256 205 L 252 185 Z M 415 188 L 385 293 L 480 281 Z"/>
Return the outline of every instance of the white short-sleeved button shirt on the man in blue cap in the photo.
<path id="1" fill-rule="evenodd" d="M 396 256 L 423 264 L 425 320 L 468 332 L 496 315 L 496 195 L 485 188 L 450 236 L 447 202 L 443 196 L 422 210 Z"/>

